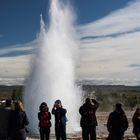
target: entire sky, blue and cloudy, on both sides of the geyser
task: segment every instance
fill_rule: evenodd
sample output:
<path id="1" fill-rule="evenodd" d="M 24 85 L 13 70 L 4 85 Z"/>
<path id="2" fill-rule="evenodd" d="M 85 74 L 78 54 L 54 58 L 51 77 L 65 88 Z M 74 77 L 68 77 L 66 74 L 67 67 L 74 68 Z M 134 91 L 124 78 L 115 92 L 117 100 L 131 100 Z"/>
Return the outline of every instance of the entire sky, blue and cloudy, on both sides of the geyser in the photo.
<path id="1" fill-rule="evenodd" d="M 70 3 L 77 14 L 75 30 L 81 39 L 79 79 L 137 83 L 140 1 L 71 0 Z M 48 24 L 48 8 L 48 0 L 0 0 L 0 77 L 26 75 L 40 30 L 40 14 Z"/>

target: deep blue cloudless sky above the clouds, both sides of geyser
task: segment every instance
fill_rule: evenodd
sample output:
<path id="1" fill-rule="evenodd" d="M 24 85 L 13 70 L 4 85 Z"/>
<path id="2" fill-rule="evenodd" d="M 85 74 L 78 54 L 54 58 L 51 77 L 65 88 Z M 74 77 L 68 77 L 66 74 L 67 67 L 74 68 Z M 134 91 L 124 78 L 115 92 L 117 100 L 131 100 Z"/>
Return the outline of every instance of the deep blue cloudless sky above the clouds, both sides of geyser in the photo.
<path id="1" fill-rule="evenodd" d="M 113 10 L 124 7 L 129 0 L 72 0 L 77 23 L 100 19 Z M 27 43 L 36 38 L 40 14 L 48 22 L 48 0 L 0 0 L 0 47 Z"/>

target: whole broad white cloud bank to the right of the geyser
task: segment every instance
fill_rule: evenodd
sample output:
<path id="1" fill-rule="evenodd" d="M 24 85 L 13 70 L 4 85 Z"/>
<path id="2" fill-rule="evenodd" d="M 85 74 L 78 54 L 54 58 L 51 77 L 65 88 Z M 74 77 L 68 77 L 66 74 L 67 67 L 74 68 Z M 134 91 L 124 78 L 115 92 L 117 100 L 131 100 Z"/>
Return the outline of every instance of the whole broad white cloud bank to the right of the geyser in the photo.
<path id="1" fill-rule="evenodd" d="M 80 26 L 81 79 L 132 80 L 140 78 L 140 1 L 114 11 L 93 23 Z"/>

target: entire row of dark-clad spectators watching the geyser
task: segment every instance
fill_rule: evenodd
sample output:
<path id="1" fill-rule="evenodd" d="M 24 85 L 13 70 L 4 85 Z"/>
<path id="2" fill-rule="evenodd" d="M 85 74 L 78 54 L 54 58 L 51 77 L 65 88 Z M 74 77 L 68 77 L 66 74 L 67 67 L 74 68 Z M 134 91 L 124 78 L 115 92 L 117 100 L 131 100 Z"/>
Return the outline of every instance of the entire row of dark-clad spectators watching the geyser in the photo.
<path id="1" fill-rule="evenodd" d="M 25 140 L 29 124 L 27 115 L 21 101 L 15 101 L 11 108 L 11 100 L 6 100 L 5 108 L 0 109 L 0 140 Z M 99 103 L 95 99 L 86 98 L 85 103 L 79 108 L 81 115 L 80 126 L 82 128 L 83 140 L 96 140 L 96 127 L 98 125 L 96 111 Z M 63 108 L 60 100 L 56 100 L 52 111 L 46 102 L 39 106 L 38 120 L 41 140 L 50 139 L 51 114 L 55 118 L 56 140 L 66 140 L 66 117 L 67 110 Z M 137 108 L 133 118 L 133 133 L 140 140 L 140 108 Z M 106 140 L 123 140 L 128 128 L 127 116 L 122 109 L 122 104 L 117 103 L 114 110 L 109 114 L 107 130 L 109 132 Z"/>

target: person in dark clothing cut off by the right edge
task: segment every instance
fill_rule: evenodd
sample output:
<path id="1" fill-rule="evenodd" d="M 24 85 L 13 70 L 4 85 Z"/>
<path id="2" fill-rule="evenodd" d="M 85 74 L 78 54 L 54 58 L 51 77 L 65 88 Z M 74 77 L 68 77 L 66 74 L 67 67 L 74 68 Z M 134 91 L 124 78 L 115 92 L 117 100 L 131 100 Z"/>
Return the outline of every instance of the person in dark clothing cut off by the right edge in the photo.
<path id="1" fill-rule="evenodd" d="M 133 133 L 135 134 L 137 140 L 140 140 L 140 108 L 137 108 L 133 118 Z"/>

